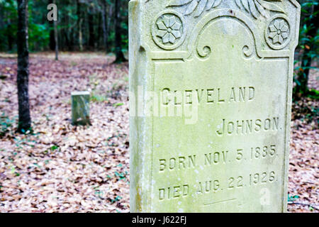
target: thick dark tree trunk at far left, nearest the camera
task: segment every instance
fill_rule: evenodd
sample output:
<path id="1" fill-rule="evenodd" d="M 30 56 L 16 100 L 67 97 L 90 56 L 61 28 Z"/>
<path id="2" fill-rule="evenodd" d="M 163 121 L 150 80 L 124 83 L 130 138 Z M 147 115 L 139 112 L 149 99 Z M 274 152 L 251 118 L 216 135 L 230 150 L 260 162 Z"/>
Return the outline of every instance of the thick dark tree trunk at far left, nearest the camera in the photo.
<path id="1" fill-rule="evenodd" d="M 28 0 L 18 0 L 18 131 L 31 128 L 28 94 L 29 50 L 28 50 Z"/>

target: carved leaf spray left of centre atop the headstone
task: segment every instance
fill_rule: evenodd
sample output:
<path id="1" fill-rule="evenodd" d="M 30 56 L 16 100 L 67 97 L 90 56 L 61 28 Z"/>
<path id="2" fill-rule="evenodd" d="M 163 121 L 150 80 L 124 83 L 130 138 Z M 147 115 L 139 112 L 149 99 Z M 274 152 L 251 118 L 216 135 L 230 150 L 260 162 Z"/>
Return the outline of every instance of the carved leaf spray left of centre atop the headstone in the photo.
<path id="1" fill-rule="evenodd" d="M 186 6 L 184 15 L 194 13 L 195 17 L 201 16 L 203 11 L 209 11 L 220 4 L 222 0 L 172 0 L 168 6 Z"/>

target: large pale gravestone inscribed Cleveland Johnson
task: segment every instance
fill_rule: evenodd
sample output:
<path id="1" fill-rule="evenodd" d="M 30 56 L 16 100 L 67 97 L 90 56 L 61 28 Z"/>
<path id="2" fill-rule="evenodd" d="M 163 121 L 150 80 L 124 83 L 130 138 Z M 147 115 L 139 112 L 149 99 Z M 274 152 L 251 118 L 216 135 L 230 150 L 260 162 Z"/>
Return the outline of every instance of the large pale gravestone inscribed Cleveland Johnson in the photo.
<path id="1" fill-rule="evenodd" d="M 129 8 L 131 211 L 286 211 L 297 1 Z"/>

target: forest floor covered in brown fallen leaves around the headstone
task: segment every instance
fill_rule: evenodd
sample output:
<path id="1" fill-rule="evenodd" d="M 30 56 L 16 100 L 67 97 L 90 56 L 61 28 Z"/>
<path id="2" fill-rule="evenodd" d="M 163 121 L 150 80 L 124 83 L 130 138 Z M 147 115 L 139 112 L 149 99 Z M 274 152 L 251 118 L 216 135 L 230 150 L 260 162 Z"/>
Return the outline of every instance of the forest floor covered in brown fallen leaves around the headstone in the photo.
<path id="1" fill-rule="evenodd" d="M 17 134 L 16 57 L 0 54 L 0 212 L 128 212 L 128 63 L 89 52 L 53 59 L 30 55 L 33 133 Z M 77 90 L 91 92 L 89 127 L 71 125 Z M 318 106 L 293 104 L 290 212 L 319 209 Z"/>

